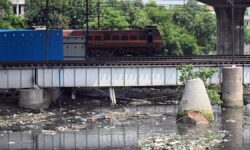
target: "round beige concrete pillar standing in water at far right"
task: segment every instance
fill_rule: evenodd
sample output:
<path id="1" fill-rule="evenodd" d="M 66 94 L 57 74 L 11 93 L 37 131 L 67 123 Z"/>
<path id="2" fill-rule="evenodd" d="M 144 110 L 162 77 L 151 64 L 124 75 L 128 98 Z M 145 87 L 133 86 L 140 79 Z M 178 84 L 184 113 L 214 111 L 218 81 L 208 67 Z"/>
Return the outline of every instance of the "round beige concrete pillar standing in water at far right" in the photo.
<path id="1" fill-rule="evenodd" d="M 243 107 L 242 67 L 222 68 L 222 100 L 224 107 Z"/>

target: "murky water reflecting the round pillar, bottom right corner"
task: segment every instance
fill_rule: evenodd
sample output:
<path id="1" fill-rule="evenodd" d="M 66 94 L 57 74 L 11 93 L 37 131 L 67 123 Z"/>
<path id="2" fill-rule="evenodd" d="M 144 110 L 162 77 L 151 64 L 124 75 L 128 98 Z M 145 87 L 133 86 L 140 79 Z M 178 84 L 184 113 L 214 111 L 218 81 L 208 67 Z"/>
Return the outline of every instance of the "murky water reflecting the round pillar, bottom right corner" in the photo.
<path id="1" fill-rule="evenodd" d="M 248 150 L 250 149 L 249 110 L 242 108 L 227 108 L 221 111 L 221 129 L 229 131 L 224 142 L 215 149 Z M 246 114 L 246 115 L 245 115 Z"/>

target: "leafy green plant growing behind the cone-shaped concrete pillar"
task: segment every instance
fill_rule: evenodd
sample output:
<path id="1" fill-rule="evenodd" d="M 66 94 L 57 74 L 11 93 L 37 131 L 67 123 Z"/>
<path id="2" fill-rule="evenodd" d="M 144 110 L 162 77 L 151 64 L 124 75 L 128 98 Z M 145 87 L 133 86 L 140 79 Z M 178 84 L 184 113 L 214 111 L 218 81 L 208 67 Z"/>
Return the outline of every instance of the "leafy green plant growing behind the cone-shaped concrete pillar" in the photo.
<path id="1" fill-rule="evenodd" d="M 179 81 L 183 84 L 183 86 L 185 86 L 187 81 L 190 79 L 201 78 L 205 84 L 208 97 L 211 100 L 211 102 L 213 104 L 218 104 L 218 105 L 222 104 L 222 100 L 220 99 L 220 95 L 218 93 L 219 92 L 218 86 L 207 84 L 208 79 L 211 78 L 215 72 L 217 72 L 217 69 L 201 68 L 199 71 L 194 71 L 193 65 L 182 65 L 178 69 L 181 74 Z"/>

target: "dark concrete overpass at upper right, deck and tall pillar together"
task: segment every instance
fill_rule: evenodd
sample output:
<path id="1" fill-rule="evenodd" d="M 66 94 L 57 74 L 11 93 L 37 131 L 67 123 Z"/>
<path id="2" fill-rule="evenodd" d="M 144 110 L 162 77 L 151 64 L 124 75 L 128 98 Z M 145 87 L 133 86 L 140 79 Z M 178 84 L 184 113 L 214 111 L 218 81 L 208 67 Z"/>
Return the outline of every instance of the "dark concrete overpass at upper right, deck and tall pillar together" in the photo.
<path id="1" fill-rule="evenodd" d="M 197 0 L 211 5 L 217 17 L 217 54 L 244 53 L 244 14 L 250 0 Z M 234 35 L 233 35 L 234 34 Z"/>

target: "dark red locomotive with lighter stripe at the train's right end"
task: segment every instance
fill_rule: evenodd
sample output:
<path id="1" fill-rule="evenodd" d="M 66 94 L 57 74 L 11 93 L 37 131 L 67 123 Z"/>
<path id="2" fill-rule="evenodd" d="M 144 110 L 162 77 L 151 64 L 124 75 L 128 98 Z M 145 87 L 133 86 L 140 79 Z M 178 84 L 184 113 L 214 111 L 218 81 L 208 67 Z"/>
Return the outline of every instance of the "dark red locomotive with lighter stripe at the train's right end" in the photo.
<path id="1" fill-rule="evenodd" d="M 64 30 L 64 37 L 84 37 L 83 30 Z M 161 55 L 163 43 L 159 31 L 152 26 L 130 30 L 89 30 L 88 55 L 155 56 Z"/>

